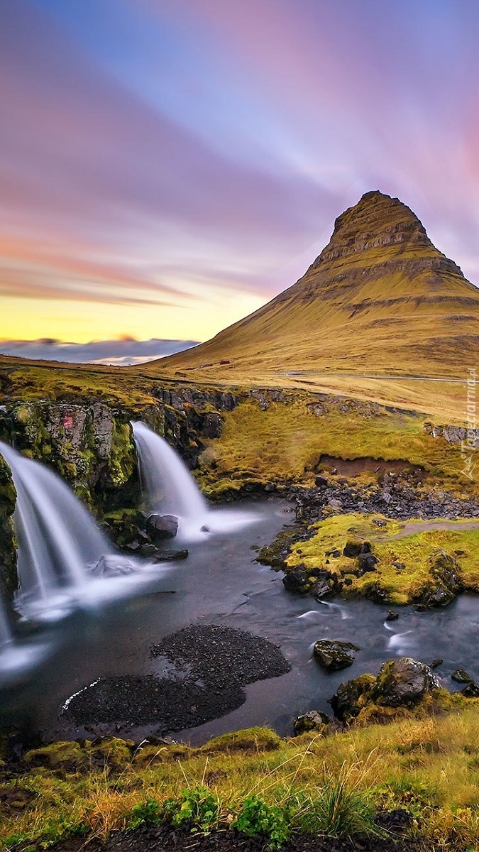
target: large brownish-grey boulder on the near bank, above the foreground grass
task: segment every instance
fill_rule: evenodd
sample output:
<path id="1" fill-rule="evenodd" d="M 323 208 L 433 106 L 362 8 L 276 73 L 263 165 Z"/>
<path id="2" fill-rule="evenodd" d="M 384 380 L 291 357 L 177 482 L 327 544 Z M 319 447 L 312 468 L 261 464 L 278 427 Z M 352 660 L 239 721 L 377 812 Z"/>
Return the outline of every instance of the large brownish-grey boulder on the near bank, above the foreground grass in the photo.
<path id="1" fill-rule="evenodd" d="M 439 681 L 429 665 L 412 657 L 390 659 L 381 666 L 371 690 L 374 704 L 386 707 L 413 705 L 425 694 L 439 688 Z"/>

